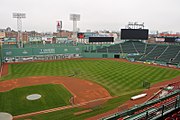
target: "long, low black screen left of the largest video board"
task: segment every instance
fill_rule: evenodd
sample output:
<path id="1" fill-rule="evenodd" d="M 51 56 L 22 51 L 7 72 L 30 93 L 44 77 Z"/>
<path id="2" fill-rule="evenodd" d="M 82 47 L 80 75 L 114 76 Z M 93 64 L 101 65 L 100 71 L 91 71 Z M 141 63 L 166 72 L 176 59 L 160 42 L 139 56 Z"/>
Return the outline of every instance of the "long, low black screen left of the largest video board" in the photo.
<path id="1" fill-rule="evenodd" d="M 89 42 L 114 42 L 114 37 L 89 37 Z"/>

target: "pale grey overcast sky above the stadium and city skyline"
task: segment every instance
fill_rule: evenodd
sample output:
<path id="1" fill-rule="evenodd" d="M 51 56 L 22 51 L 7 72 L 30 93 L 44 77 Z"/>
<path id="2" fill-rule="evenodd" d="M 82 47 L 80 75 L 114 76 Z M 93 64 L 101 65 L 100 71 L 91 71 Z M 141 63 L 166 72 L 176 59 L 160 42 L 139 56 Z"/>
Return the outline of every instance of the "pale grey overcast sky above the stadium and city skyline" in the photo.
<path id="1" fill-rule="evenodd" d="M 56 21 L 72 30 L 71 13 L 81 15 L 80 31 L 118 31 L 128 22 L 144 22 L 146 28 L 180 32 L 180 0 L 0 0 L 0 29 L 17 29 L 13 12 L 26 13 L 24 30 L 56 31 Z"/>

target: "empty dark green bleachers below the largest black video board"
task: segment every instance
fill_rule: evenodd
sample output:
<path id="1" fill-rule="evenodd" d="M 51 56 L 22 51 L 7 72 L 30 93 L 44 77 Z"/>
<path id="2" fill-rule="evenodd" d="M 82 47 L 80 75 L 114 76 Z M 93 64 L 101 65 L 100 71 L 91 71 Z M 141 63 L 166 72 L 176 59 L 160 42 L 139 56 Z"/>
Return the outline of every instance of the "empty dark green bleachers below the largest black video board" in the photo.
<path id="1" fill-rule="evenodd" d="M 135 61 L 162 61 L 180 64 L 180 46 L 172 44 L 147 44 L 141 41 L 126 41 L 109 47 L 92 50 L 96 53 L 125 53 Z M 132 54 L 137 54 L 133 55 Z"/>

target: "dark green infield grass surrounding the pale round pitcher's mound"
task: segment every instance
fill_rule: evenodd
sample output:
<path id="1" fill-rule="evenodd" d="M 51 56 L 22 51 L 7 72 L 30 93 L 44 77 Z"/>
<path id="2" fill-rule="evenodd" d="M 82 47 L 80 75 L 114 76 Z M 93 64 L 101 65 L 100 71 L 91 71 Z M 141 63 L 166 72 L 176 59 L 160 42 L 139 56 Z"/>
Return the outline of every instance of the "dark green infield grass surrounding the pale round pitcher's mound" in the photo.
<path id="1" fill-rule="evenodd" d="M 40 94 L 38 100 L 29 101 L 27 95 Z M 19 115 L 33 111 L 40 111 L 54 107 L 69 105 L 71 94 L 62 85 L 36 85 L 16 88 L 0 93 L 0 112 Z"/>

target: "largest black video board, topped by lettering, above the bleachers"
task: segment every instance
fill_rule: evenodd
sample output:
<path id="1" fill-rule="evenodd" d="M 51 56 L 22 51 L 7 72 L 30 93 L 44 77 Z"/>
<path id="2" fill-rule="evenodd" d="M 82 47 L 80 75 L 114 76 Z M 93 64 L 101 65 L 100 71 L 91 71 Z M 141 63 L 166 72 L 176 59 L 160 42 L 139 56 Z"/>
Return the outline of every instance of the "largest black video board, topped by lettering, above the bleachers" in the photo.
<path id="1" fill-rule="evenodd" d="M 147 40 L 148 29 L 121 29 L 121 39 Z"/>

